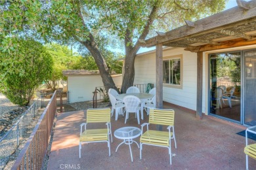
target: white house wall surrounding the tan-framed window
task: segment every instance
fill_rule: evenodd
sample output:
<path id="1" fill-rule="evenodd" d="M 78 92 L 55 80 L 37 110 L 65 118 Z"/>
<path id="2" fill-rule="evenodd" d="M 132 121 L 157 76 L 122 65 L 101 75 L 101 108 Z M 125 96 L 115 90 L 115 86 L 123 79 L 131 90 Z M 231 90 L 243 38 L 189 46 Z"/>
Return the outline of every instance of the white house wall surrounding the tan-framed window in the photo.
<path id="1" fill-rule="evenodd" d="M 163 86 L 163 101 L 196 110 L 196 53 L 184 48 L 163 50 L 163 58 L 182 54 L 182 88 Z M 154 83 L 156 86 L 156 52 L 139 54 L 135 59 L 134 84 Z"/>

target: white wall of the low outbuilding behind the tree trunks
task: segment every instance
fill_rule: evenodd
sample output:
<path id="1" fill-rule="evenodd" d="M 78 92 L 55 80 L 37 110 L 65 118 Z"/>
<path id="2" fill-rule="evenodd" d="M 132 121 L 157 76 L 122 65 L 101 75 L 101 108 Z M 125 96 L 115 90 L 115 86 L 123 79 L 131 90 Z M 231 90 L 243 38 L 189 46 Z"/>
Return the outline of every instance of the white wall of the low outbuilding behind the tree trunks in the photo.
<path id="1" fill-rule="evenodd" d="M 121 85 L 122 75 L 112 76 L 117 86 Z M 104 86 L 100 75 L 68 76 L 69 102 L 92 101 L 95 87 Z"/>

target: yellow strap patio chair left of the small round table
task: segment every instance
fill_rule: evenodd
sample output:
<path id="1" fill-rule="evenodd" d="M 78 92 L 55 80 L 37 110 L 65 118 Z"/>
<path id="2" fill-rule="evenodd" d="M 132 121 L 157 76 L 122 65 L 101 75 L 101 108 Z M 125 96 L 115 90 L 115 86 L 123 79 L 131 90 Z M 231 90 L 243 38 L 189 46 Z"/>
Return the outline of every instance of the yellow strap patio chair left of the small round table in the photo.
<path id="1" fill-rule="evenodd" d="M 111 109 L 88 109 L 86 123 L 81 124 L 80 139 L 79 139 L 79 158 L 81 158 L 81 144 L 82 143 L 108 143 L 108 150 L 110 156 L 110 137 L 112 139 L 111 123 L 110 123 Z M 86 129 L 89 123 L 106 123 L 106 129 Z M 85 130 L 83 131 L 83 126 Z"/>

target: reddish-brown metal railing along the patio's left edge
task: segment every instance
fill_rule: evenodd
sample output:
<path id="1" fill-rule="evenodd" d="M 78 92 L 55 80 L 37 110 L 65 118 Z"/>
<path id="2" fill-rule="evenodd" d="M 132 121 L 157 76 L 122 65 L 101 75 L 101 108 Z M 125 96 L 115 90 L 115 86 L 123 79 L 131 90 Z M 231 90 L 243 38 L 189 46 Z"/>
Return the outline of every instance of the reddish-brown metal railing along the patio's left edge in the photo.
<path id="1" fill-rule="evenodd" d="M 56 91 L 39 118 L 30 138 L 20 151 L 12 169 L 43 169 L 55 114 Z"/>

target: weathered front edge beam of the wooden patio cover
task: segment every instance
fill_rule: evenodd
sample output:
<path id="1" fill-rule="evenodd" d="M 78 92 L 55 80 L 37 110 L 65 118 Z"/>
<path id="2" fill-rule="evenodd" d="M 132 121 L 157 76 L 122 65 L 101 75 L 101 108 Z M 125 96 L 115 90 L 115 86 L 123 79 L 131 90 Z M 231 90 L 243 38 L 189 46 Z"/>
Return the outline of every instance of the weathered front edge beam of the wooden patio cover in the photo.
<path id="1" fill-rule="evenodd" d="M 247 3 L 250 7 L 246 12 L 240 7 L 234 7 L 232 9 L 220 12 L 218 14 L 208 16 L 202 20 L 194 22 L 195 27 L 188 29 L 187 25 L 173 29 L 166 32 L 164 37 L 156 36 L 146 40 L 146 44 L 143 46 L 154 46 L 157 43 L 165 43 L 171 41 L 178 41 L 184 39 L 190 35 L 202 35 L 204 33 L 218 31 L 220 29 L 228 29 L 236 25 L 241 25 L 256 20 L 256 1 L 249 1 Z"/>

